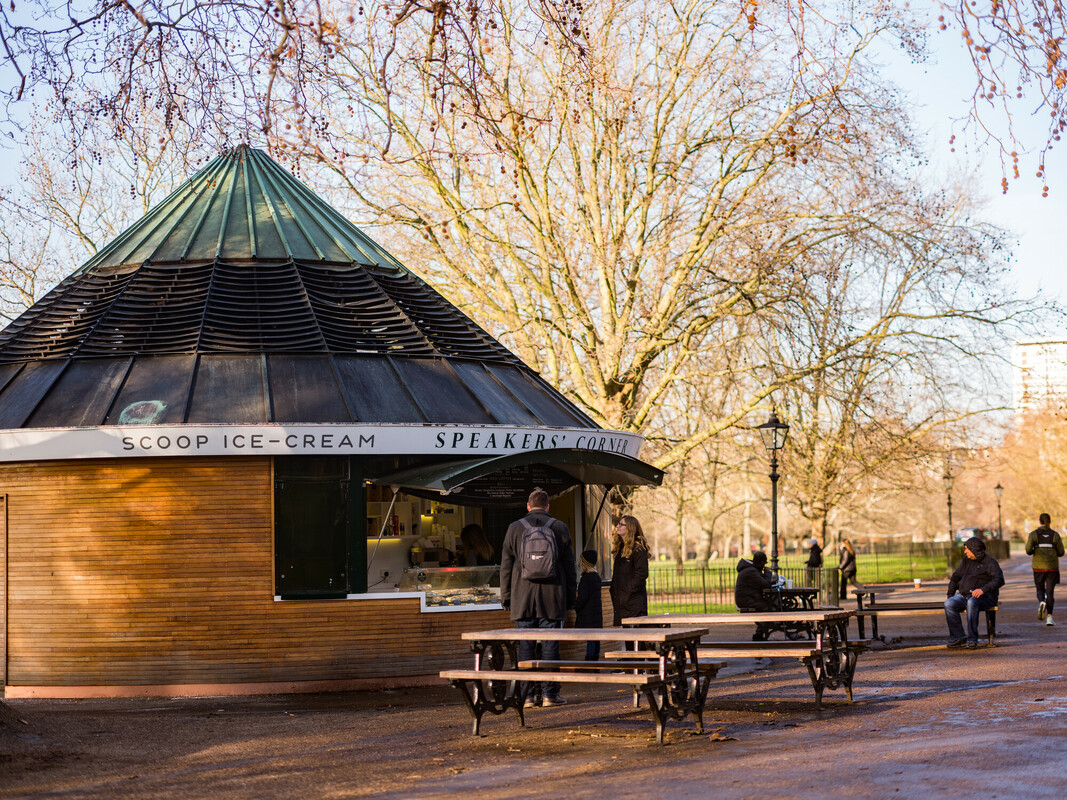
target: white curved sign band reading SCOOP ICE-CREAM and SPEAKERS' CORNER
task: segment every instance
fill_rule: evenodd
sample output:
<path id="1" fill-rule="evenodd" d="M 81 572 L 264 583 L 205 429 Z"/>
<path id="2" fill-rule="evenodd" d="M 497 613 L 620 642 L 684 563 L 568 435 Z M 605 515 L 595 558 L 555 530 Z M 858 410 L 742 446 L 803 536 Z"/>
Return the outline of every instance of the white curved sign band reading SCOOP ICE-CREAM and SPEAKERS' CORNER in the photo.
<path id="1" fill-rule="evenodd" d="M 506 455 L 556 448 L 637 458 L 643 437 L 584 428 L 118 425 L 0 431 L 0 462 L 161 455 Z"/>

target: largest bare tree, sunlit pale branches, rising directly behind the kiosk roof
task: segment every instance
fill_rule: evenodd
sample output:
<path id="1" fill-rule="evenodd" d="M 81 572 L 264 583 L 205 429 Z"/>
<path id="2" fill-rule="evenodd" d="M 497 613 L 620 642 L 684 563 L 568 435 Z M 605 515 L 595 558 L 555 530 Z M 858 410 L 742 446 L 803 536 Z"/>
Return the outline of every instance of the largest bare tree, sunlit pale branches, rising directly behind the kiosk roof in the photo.
<path id="1" fill-rule="evenodd" d="M 314 135 L 291 146 L 323 159 L 381 222 L 419 230 L 420 247 L 399 245 L 409 263 L 590 414 L 657 435 L 670 387 L 714 372 L 722 341 L 759 333 L 750 318 L 785 324 L 770 319 L 803 295 L 807 251 L 879 224 L 877 187 L 894 174 L 879 150 L 910 142 L 862 63 L 878 30 L 842 42 L 827 27 L 816 64 L 783 57 L 734 6 L 601 3 L 583 14 L 579 61 L 521 11 L 500 11 L 507 47 L 477 50 L 477 94 L 424 59 L 396 60 L 386 81 L 368 22 L 371 44 L 344 48 L 334 61 L 347 68 L 315 85 L 323 107 L 375 106 L 377 137 L 334 118 L 339 150 Z M 818 35 L 812 23 L 806 42 Z M 401 91 L 405 103 L 391 105 Z M 365 162 L 386 130 L 392 149 Z M 764 370 L 659 463 L 818 368 Z"/>

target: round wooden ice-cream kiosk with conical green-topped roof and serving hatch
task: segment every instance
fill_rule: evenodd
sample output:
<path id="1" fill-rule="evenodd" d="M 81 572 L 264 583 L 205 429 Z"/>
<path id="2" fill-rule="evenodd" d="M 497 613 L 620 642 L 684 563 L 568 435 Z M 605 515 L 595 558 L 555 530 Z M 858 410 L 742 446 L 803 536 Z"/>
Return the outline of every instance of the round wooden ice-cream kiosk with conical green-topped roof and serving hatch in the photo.
<path id="1" fill-rule="evenodd" d="M 658 484 L 265 154 L 229 150 L 0 332 L 7 697 L 435 681 L 510 624 L 535 486 L 579 550 Z"/>

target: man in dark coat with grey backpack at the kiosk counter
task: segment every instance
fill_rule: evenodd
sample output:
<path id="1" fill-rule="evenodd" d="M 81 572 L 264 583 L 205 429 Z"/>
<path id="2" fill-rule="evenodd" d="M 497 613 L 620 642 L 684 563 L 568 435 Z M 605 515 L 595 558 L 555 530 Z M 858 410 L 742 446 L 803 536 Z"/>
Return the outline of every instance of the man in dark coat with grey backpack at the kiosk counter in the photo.
<path id="1" fill-rule="evenodd" d="M 577 578 L 571 530 L 548 514 L 548 493 L 530 492 L 527 514 L 508 526 L 500 554 L 500 605 L 521 628 L 561 628 L 574 608 Z M 520 661 L 531 660 L 537 642 L 519 642 Z M 559 642 L 541 642 L 541 657 L 559 660 Z M 526 684 L 524 707 L 536 706 L 538 687 Z M 559 684 L 541 685 L 542 704 L 563 705 Z"/>

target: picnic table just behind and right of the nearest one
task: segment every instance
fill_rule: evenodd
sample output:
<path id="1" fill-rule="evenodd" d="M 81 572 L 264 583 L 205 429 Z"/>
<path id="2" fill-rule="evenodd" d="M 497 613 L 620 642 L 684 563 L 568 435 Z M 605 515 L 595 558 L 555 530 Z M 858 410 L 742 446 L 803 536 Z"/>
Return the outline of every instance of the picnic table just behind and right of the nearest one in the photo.
<path id="1" fill-rule="evenodd" d="M 652 617 L 628 617 L 622 621 L 635 629 L 648 626 L 699 625 L 716 628 L 722 625 L 751 625 L 775 623 L 806 625 L 812 631 L 807 641 L 701 641 L 697 656 L 704 659 L 731 658 L 786 658 L 799 660 L 808 668 L 812 688 L 815 690 L 815 707 L 823 704 L 823 692 L 827 689 L 843 688 L 853 702 L 853 679 L 859 654 L 866 649 L 867 641 L 848 640 L 848 620 L 854 611 L 845 609 L 821 609 L 801 611 L 766 611 L 757 613 L 682 613 L 654 614 Z M 628 631 L 622 637 L 630 638 Z M 633 653 L 630 654 L 633 656 Z M 611 652 L 605 658 L 622 658 L 623 653 Z"/>

